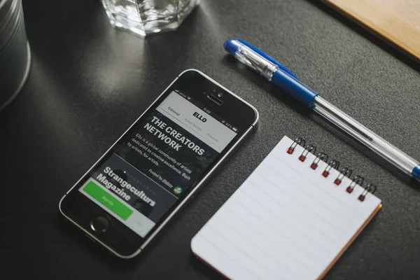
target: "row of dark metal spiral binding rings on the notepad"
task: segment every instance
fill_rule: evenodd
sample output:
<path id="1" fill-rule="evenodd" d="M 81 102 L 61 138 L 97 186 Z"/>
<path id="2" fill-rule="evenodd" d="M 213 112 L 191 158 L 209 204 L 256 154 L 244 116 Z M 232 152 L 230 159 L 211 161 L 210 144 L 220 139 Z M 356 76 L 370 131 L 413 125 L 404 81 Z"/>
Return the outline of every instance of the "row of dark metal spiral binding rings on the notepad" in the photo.
<path id="1" fill-rule="evenodd" d="M 316 151 L 316 146 L 311 145 L 311 144 L 309 144 L 308 146 L 305 146 L 304 139 L 302 139 L 302 137 L 298 137 L 295 141 L 293 141 L 293 144 L 290 145 L 290 147 L 287 150 L 287 153 L 289 155 L 293 154 L 297 145 L 300 145 L 304 148 L 302 154 L 299 156 L 299 160 L 301 162 L 304 162 L 304 160 L 306 160 L 307 155 L 309 153 L 314 154 Z M 327 167 L 325 167 L 324 171 L 321 174 L 325 178 L 327 178 L 330 175 L 331 169 L 335 169 L 335 170 L 339 169 L 339 161 L 338 160 L 328 161 L 328 154 L 326 153 L 318 153 L 318 155 L 316 155 L 315 160 L 311 163 L 311 169 L 315 170 L 318 167 L 318 163 L 321 160 L 324 162 L 328 162 Z M 352 172 L 353 171 L 347 167 L 342 168 L 341 172 L 339 172 L 339 175 L 334 180 L 335 185 L 339 186 L 342 183 L 342 180 L 344 179 L 344 177 L 350 178 Z M 349 186 L 346 188 L 346 192 L 349 194 L 353 193 L 353 190 L 354 188 L 356 188 L 356 185 L 363 188 L 363 181 L 365 181 L 365 178 L 363 178 L 363 176 L 360 176 L 360 175 L 354 176 L 353 180 L 351 181 Z M 377 189 L 376 185 L 372 183 L 367 183 L 363 192 L 358 196 L 358 200 L 360 200 L 360 202 L 365 201 L 365 197 L 367 193 L 373 194 L 376 191 L 376 189 Z"/>

